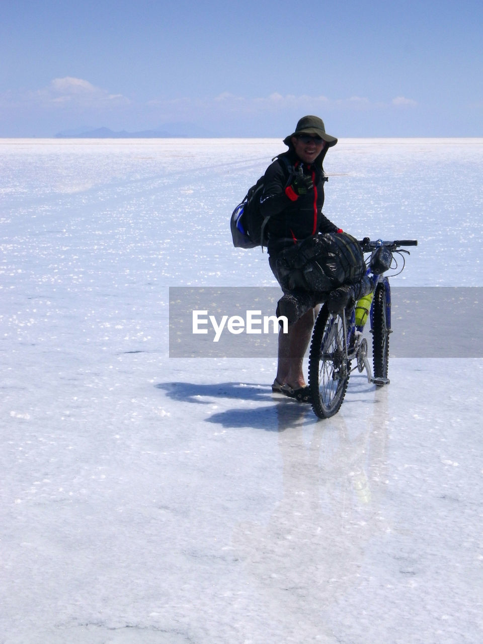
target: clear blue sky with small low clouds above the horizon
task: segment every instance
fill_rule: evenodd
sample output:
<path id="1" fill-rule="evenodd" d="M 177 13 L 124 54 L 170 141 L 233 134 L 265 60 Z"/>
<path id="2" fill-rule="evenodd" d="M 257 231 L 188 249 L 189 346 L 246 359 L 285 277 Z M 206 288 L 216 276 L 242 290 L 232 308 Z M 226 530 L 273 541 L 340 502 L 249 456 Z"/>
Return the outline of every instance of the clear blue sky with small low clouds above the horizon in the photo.
<path id="1" fill-rule="evenodd" d="M 483 136 L 480 0 L 4 0 L 0 137 Z"/>

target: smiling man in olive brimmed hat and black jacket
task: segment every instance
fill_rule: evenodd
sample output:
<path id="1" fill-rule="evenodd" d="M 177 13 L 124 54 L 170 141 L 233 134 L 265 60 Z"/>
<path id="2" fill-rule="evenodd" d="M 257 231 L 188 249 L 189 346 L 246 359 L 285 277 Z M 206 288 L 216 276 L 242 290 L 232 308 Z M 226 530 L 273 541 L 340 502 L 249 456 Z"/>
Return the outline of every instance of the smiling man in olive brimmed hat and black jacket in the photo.
<path id="1" fill-rule="evenodd" d="M 327 180 L 322 164 L 328 148 L 336 145 L 337 138 L 325 132 L 321 118 L 306 116 L 283 142 L 289 150 L 267 168 L 260 200 L 261 214 L 263 217 L 270 215 L 265 232 L 270 268 L 284 291 L 278 314 L 285 314 L 289 322 L 292 321 L 287 334 L 279 333 L 278 368 L 272 391 L 310 403 L 302 365 L 316 311 L 308 294 L 305 298 L 303 294 L 294 298 L 293 293 L 283 287 L 276 260 L 281 251 L 298 240 L 318 232 L 342 232 L 322 213 Z M 282 159 L 283 156 L 294 168 L 291 178 L 287 173 L 287 159 Z"/>

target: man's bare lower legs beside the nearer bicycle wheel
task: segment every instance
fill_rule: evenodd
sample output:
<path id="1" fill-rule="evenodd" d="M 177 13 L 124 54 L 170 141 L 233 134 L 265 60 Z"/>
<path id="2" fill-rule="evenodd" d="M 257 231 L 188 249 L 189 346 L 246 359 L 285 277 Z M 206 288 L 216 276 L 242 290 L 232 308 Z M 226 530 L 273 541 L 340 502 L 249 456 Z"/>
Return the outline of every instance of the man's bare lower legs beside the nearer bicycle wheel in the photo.
<path id="1" fill-rule="evenodd" d="M 277 380 L 280 384 L 288 384 L 292 389 L 305 387 L 303 357 L 312 336 L 316 314 L 317 308 L 310 308 L 289 326 L 288 333 L 282 333 L 281 330 L 279 332 Z"/>

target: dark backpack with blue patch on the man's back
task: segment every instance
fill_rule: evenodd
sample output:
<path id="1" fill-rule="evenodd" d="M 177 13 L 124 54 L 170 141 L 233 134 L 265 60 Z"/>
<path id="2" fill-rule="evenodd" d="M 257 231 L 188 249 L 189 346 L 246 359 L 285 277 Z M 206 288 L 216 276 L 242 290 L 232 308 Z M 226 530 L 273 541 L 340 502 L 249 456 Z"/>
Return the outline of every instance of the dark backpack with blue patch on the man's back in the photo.
<path id="1" fill-rule="evenodd" d="M 276 156 L 282 167 L 287 170 L 286 186 L 292 182 L 294 167 L 286 155 Z M 263 217 L 260 212 L 260 198 L 263 194 L 265 176 L 261 176 L 255 185 L 249 189 L 243 201 L 236 206 L 231 215 L 230 228 L 233 245 L 235 248 L 255 248 L 263 245 L 265 238 L 263 232 L 270 219 L 270 215 Z"/>

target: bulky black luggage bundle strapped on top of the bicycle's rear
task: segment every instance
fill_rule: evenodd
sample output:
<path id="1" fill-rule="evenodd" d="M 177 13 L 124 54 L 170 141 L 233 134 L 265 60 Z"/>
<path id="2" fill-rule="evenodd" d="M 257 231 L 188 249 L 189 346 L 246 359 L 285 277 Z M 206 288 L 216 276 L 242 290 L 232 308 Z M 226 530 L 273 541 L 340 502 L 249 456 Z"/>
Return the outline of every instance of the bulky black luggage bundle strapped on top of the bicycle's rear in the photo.
<path id="1" fill-rule="evenodd" d="M 313 235 L 281 251 L 276 260 L 284 290 L 330 292 L 366 274 L 361 245 L 346 232 Z"/>

